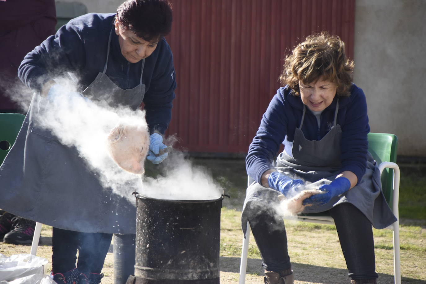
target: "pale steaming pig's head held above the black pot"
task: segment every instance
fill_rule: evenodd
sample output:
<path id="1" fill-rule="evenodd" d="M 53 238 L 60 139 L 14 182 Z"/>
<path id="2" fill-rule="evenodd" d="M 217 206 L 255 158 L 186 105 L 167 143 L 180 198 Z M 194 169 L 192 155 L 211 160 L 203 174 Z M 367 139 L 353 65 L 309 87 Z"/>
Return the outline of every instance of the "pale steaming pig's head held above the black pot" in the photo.
<path id="1" fill-rule="evenodd" d="M 144 174 L 144 162 L 150 146 L 147 127 L 118 124 L 108 135 L 109 155 L 118 166 L 133 174 Z"/>

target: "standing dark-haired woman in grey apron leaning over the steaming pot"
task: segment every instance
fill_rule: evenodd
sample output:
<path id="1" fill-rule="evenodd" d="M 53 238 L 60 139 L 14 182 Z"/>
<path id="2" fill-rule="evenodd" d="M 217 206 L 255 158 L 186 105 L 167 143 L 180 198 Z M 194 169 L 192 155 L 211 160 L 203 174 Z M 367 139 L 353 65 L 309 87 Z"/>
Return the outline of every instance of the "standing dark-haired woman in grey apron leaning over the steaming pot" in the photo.
<path id="1" fill-rule="evenodd" d="M 164 39 L 171 23 L 167 0 L 128 0 L 117 13 L 70 20 L 19 67 L 20 79 L 35 95 L 2 166 L 0 208 L 53 227 L 57 283 L 100 283 L 112 234 L 135 234 L 135 206 L 104 188 L 76 149 L 37 125 L 37 115 L 58 90 L 66 91 L 55 78 L 71 73 L 76 95 L 93 102 L 134 110 L 144 102 L 152 150 L 147 159 L 163 161 L 167 153 L 158 154 L 166 147 L 162 135 L 176 89 L 173 55 Z"/>

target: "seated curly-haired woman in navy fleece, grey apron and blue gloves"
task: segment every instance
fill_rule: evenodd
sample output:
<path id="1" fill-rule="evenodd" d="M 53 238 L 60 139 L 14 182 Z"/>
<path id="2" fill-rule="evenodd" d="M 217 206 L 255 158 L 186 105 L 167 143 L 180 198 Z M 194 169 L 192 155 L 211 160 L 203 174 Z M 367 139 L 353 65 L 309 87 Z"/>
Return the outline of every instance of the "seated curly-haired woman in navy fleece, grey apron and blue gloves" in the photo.
<path id="1" fill-rule="evenodd" d="M 376 283 L 371 224 L 396 221 L 381 192 L 380 172 L 368 153 L 366 97 L 352 83 L 354 63 L 345 44 L 327 33 L 313 34 L 285 59 L 282 88 L 271 100 L 250 144 L 242 214 L 253 232 L 265 268 L 265 283 L 294 282 L 278 195 L 291 198 L 305 188 L 321 194 L 303 201 L 303 213 L 328 211 L 334 218 L 351 283 Z M 284 151 L 273 159 L 284 144 Z"/>

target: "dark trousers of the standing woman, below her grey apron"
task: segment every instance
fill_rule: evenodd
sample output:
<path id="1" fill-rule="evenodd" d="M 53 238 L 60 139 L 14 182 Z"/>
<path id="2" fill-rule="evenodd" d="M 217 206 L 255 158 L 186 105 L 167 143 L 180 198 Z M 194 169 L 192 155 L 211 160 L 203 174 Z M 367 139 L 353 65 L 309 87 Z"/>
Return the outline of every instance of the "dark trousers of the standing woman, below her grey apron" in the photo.
<path id="1" fill-rule="evenodd" d="M 79 273 L 101 273 L 104 267 L 112 234 L 83 233 L 53 228 L 52 272 L 65 273 L 74 269 L 78 262 Z"/>

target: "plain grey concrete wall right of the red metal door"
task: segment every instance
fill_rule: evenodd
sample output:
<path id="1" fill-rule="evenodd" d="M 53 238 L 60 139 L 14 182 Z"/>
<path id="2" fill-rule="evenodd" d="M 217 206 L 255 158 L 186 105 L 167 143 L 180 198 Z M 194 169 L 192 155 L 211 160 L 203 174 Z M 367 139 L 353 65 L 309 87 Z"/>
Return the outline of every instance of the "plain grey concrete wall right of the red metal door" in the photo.
<path id="1" fill-rule="evenodd" d="M 426 1 L 357 0 L 354 82 L 371 132 L 398 136 L 398 155 L 426 157 Z"/>

